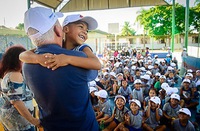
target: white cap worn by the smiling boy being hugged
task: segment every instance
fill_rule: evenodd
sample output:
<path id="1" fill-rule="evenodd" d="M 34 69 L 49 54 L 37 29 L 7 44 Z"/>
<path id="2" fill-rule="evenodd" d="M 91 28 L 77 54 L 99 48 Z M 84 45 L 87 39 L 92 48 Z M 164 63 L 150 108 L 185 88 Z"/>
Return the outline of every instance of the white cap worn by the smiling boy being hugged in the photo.
<path id="1" fill-rule="evenodd" d="M 98 26 L 98 23 L 94 18 L 92 18 L 90 16 L 83 17 L 80 14 L 68 15 L 64 19 L 62 26 L 64 27 L 64 26 L 68 25 L 69 23 L 73 23 L 73 22 L 76 22 L 76 21 L 86 22 L 88 24 L 88 30 L 95 30 Z"/>

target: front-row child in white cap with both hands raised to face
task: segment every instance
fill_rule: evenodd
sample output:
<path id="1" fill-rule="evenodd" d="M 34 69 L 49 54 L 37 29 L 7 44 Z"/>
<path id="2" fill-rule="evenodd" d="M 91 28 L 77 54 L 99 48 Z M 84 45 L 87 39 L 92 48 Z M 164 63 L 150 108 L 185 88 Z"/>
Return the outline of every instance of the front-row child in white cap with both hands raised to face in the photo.
<path id="1" fill-rule="evenodd" d="M 154 96 L 150 99 L 148 106 L 145 109 L 145 122 L 143 124 L 143 129 L 151 130 L 160 130 L 164 131 L 166 129 L 165 125 L 159 125 L 160 119 L 163 115 L 162 110 L 160 109 L 160 98 Z"/>

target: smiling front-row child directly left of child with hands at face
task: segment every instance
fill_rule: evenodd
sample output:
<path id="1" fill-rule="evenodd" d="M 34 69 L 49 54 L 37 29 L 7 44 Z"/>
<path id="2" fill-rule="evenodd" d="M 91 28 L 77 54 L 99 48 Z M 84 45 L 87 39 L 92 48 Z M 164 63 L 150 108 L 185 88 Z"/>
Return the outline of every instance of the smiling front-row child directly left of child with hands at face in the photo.
<path id="1" fill-rule="evenodd" d="M 142 131 L 143 112 L 140 111 L 140 101 L 129 100 L 130 111 L 125 114 L 125 122 L 120 123 L 114 131 Z"/>

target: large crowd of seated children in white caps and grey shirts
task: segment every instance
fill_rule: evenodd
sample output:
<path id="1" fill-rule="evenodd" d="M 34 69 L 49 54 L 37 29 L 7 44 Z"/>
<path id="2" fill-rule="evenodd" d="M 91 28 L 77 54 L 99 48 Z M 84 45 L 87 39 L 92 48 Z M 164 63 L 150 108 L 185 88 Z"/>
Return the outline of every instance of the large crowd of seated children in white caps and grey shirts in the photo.
<path id="1" fill-rule="evenodd" d="M 98 78 L 89 83 L 100 130 L 198 128 L 190 118 L 191 110 L 199 104 L 200 70 L 188 69 L 181 78 L 171 54 L 159 59 L 147 48 L 140 57 L 131 53 L 126 56 L 124 49 L 102 58 Z"/>

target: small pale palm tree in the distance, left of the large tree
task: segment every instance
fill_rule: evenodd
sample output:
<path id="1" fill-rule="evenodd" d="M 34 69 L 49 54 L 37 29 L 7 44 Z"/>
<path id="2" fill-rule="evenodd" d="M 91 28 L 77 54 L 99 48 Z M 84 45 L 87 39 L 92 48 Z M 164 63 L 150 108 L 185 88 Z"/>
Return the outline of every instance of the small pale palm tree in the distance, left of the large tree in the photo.
<path id="1" fill-rule="evenodd" d="M 133 28 L 131 28 L 130 23 L 129 22 L 124 22 L 124 26 L 122 28 L 122 32 L 121 35 L 122 36 L 133 36 L 135 35 L 135 30 Z"/>

